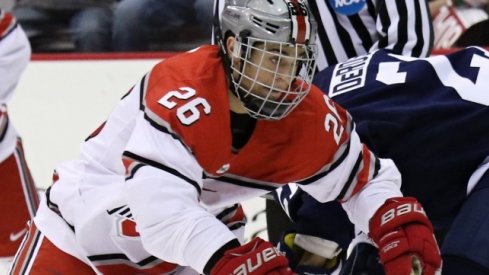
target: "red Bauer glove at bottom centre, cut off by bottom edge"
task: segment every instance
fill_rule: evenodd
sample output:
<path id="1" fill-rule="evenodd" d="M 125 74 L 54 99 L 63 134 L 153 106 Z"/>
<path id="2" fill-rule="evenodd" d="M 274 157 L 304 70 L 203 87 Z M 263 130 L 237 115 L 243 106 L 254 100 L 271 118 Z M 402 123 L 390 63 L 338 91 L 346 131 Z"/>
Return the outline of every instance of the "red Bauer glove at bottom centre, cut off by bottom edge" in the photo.
<path id="1" fill-rule="evenodd" d="M 287 258 L 271 243 L 254 238 L 249 243 L 224 252 L 210 275 L 293 275 Z"/>

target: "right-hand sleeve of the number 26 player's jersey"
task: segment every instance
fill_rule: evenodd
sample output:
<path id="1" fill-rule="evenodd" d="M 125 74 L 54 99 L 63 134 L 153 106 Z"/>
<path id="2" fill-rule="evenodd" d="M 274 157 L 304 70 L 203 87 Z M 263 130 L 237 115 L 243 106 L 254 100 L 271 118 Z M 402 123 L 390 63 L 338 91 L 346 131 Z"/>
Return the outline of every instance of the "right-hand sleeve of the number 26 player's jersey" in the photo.
<path id="1" fill-rule="evenodd" d="M 392 160 L 378 158 L 361 142 L 345 109 L 323 97 L 329 109 L 326 130 L 335 140 L 330 142 L 334 155 L 316 176 L 297 183 L 320 202 L 341 202 L 350 220 L 368 232 L 370 217 L 385 200 L 402 196 L 401 174 Z"/>

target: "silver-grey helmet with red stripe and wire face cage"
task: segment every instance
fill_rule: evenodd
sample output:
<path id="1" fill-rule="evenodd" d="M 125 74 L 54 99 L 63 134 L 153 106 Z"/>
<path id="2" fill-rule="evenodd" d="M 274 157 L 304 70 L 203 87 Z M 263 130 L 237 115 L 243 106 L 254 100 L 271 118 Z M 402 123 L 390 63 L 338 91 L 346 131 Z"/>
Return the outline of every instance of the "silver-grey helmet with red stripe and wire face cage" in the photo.
<path id="1" fill-rule="evenodd" d="M 257 119 L 270 120 L 288 115 L 308 94 L 316 68 L 317 25 L 306 1 L 225 0 L 218 27 L 216 41 L 229 68 L 231 90 L 248 113 Z M 229 36 L 236 38 L 231 59 L 227 58 L 226 50 Z M 268 50 L 272 46 L 274 50 Z M 255 51 L 261 58 L 253 61 L 251 54 Z M 265 55 L 274 56 L 275 68 L 263 66 Z M 290 70 L 279 69 L 282 63 L 292 64 Z M 246 67 L 255 68 L 255 75 L 245 74 Z M 273 74 L 273 82 L 260 81 L 260 72 Z M 278 78 L 289 79 L 290 85 L 277 88 Z M 267 92 L 253 93 L 257 86 L 265 87 Z"/>

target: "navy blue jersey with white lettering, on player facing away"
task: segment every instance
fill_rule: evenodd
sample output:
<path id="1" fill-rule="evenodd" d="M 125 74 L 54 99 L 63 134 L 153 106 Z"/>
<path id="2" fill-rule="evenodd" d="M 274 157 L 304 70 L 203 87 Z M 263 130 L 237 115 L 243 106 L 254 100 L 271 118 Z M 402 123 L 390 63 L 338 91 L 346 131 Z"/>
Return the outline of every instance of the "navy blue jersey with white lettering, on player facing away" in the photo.
<path id="1" fill-rule="evenodd" d="M 437 227 L 450 222 L 489 155 L 489 53 L 415 59 L 380 50 L 328 67 L 315 84 L 352 114 L 378 156 L 394 160 L 404 194 Z"/>

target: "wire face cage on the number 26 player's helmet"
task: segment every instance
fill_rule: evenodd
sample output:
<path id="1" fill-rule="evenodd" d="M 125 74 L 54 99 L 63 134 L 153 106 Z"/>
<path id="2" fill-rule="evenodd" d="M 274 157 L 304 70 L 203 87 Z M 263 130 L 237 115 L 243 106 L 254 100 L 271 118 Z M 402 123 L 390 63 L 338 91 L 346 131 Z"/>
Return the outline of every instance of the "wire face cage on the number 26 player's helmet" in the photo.
<path id="1" fill-rule="evenodd" d="M 270 46 L 278 50 L 267 50 Z M 293 49 L 292 54 L 283 54 L 285 48 Z M 252 55 L 258 56 L 255 62 Z M 265 66 L 265 57 L 276 60 L 276 66 Z M 309 93 L 316 69 L 316 47 L 239 35 L 231 59 L 232 88 L 248 113 L 257 119 L 278 120 L 287 116 Z M 288 64 L 285 66 L 288 69 L 284 70 L 283 63 Z M 272 82 L 261 81 L 261 74 L 271 74 Z M 288 82 L 286 87 L 283 82 L 277 83 L 279 79 Z"/>

